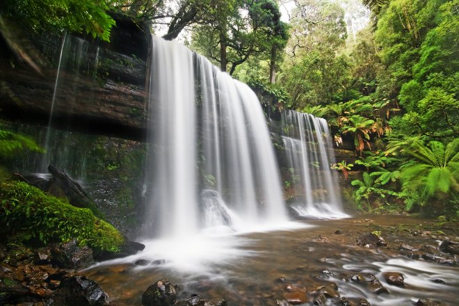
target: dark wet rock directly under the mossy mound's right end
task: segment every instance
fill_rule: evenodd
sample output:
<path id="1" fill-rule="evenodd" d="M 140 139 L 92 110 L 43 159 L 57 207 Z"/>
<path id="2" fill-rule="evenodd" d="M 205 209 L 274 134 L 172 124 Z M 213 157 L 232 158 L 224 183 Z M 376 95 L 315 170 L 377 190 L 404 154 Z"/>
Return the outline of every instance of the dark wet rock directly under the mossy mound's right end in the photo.
<path id="1" fill-rule="evenodd" d="M 53 262 L 62 268 L 81 269 L 94 264 L 92 250 L 79 246 L 74 240 L 53 245 L 51 255 Z"/>

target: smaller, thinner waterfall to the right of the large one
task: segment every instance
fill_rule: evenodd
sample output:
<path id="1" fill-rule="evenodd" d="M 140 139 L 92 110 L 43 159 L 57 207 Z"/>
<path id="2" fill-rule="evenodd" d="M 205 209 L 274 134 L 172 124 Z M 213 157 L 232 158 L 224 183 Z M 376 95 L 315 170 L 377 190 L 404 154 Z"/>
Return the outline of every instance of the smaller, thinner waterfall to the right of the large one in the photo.
<path id="1" fill-rule="evenodd" d="M 305 218 L 344 218 L 327 121 L 314 115 L 282 113 L 282 140 L 296 198 L 291 207 Z"/>

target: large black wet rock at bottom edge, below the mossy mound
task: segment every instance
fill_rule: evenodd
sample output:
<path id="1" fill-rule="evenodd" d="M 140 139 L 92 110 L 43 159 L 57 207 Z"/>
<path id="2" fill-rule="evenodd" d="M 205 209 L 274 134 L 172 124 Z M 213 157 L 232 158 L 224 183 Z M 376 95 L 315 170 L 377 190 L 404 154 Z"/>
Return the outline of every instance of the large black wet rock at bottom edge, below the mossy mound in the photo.
<path id="1" fill-rule="evenodd" d="M 56 291 L 54 304 L 72 306 L 104 306 L 108 305 L 107 294 L 97 282 L 85 276 L 65 278 Z"/>

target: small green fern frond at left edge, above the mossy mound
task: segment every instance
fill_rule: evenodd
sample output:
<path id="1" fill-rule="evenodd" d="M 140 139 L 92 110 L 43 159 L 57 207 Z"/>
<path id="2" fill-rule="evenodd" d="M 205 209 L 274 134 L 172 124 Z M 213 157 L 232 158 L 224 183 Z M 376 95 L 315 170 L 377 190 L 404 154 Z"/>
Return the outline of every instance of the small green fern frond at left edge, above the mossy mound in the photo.
<path id="1" fill-rule="evenodd" d="M 0 129 L 0 156 L 12 156 L 15 152 L 24 149 L 44 152 L 42 147 L 29 136 Z"/>

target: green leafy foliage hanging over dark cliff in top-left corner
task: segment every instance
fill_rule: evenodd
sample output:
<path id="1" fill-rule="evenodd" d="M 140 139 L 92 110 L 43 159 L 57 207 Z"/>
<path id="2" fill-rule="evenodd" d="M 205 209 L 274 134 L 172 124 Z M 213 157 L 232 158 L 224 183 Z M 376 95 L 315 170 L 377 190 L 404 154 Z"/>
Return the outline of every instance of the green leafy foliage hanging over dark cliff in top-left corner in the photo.
<path id="1" fill-rule="evenodd" d="M 86 32 L 108 41 L 115 21 L 108 15 L 108 0 L 6 0 L 4 13 L 25 29 Z"/>

